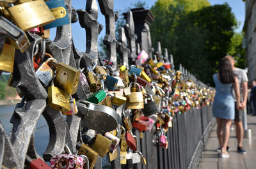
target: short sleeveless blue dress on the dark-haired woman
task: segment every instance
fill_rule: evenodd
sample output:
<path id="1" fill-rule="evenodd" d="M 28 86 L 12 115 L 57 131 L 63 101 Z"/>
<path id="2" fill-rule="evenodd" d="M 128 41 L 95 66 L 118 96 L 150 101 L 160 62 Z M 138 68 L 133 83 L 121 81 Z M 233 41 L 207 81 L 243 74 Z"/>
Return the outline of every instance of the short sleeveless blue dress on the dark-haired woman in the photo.
<path id="1" fill-rule="evenodd" d="M 217 77 L 217 73 L 213 75 L 215 83 L 216 94 L 212 106 L 213 117 L 220 119 L 234 119 L 235 118 L 235 103 L 232 94 L 233 83 L 221 84 Z"/>

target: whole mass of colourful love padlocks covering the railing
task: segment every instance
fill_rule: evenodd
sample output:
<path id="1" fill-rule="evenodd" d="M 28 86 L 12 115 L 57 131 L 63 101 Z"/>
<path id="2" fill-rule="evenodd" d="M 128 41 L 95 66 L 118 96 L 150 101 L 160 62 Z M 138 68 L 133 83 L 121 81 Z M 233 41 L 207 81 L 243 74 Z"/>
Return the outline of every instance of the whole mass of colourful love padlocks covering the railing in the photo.
<path id="1" fill-rule="evenodd" d="M 113 66 L 112 62 L 104 61 L 103 66 L 93 63 L 78 70 L 56 61 L 54 55 L 45 53 L 45 39 L 49 38 L 52 27 L 69 24 L 63 0 L 6 0 L 0 1 L 0 5 L 0 32 L 4 38 L 0 71 L 13 72 L 15 48 L 24 52 L 29 47 L 26 31 L 42 36 L 43 41 L 33 54 L 33 65 L 37 78 L 48 91 L 47 104 L 63 115 L 77 115 L 82 119 L 83 143 L 77 143 L 77 155 L 71 154 L 66 146 L 68 154 L 51 158 L 52 168 L 92 169 L 98 156 L 104 158 L 108 154 L 109 161 L 115 160 L 118 146 L 122 165 L 129 159 L 146 165 L 132 129 L 141 133 L 154 129 L 152 143 L 167 149 L 165 133 L 172 127 L 175 114 L 209 105 L 213 99 L 214 92 L 210 89 L 202 89 L 191 79 L 182 78 L 182 73 L 175 71 L 172 64 L 154 61 L 144 50 L 138 55 L 136 65 L 131 66 Z M 12 76 L 9 85 L 12 86 Z M 74 94 L 79 85 L 86 99 L 76 100 Z M 19 107 L 24 107 L 26 96 L 18 92 L 23 98 Z M 118 115 L 116 109 L 120 107 L 122 114 Z M 31 162 L 31 166 L 39 164 L 45 163 L 41 159 Z"/>

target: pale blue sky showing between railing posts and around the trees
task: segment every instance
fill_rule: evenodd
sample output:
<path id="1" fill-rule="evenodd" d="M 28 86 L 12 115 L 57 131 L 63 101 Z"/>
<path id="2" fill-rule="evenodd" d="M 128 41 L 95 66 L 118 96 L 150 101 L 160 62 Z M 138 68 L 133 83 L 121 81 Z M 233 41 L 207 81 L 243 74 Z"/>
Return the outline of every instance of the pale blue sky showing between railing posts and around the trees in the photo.
<path id="1" fill-rule="evenodd" d="M 141 0 L 146 1 L 146 0 Z M 156 3 L 157 0 L 147 0 L 147 7 L 150 8 L 152 5 Z M 193 0 L 192 0 L 193 1 Z M 244 24 L 244 18 L 245 18 L 245 11 L 244 11 L 244 5 L 245 3 L 242 0 L 208 0 L 212 5 L 214 4 L 223 4 L 228 3 L 229 6 L 232 8 L 232 12 L 235 14 L 237 20 L 241 22 L 241 25 L 236 30 L 236 32 L 243 30 L 243 24 Z M 114 10 L 115 11 L 124 11 L 129 6 L 132 6 L 132 4 L 136 4 L 138 0 L 114 0 Z M 73 0 L 72 6 L 76 9 L 85 9 L 86 0 Z M 120 13 L 122 15 L 122 13 Z M 105 18 L 100 13 L 99 9 L 99 17 L 98 22 L 104 26 L 103 30 L 99 34 L 99 38 L 104 38 L 105 36 Z M 54 39 L 54 34 L 56 32 L 56 29 L 51 29 L 51 40 Z M 81 28 L 79 25 L 79 21 L 72 24 L 72 35 L 74 39 L 75 47 L 80 51 L 84 52 L 86 48 L 86 34 L 85 29 Z"/>

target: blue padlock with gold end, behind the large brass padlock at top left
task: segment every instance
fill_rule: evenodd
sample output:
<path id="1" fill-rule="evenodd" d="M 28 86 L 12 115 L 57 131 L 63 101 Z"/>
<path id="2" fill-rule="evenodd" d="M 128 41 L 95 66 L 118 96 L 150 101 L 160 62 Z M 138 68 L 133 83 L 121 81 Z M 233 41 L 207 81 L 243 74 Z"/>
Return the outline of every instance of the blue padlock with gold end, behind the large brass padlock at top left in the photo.
<path id="1" fill-rule="evenodd" d="M 51 29 L 52 27 L 63 26 L 70 23 L 64 0 L 45 1 L 45 3 L 51 10 L 56 20 L 45 25 L 44 29 Z"/>

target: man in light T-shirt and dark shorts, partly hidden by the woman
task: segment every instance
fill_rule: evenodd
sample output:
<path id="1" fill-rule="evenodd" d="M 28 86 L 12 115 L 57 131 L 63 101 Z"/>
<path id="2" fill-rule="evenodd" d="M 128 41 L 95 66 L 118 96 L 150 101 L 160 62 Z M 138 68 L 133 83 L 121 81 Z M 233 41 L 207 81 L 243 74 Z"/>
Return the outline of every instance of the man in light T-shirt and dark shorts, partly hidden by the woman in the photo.
<path id="1" fill-rule="evenodd" d="M 243 136 L 244 136 L 244 128 L 243 128 L 243 110 L 246 107 L 246 101 L 247 101 L 247 84 L 248 84 L 248 77 L 246 75 L 246 72 L 240 68 L 235 67 L 235 60 L 231 55 L 226 55 L 225 58 L 227 58 L 231 64 L 232 64 L 232 69 L 237 75 L 238 82 L 239 82 L 239 89 L 241 92 L 241 100 L 235 100 L 235 105 L 237 102 L 241 101 L 241 110 L 239 110 L 235 106 L 235 125 L 236 125 L 236 137 L 237 137 L 237 152 L 241 154 L 246 154 L 246 151 L 244 151 L 242 144 L 243 144 Z M 246 117 L 244 117 L 246 118 Z"/>

